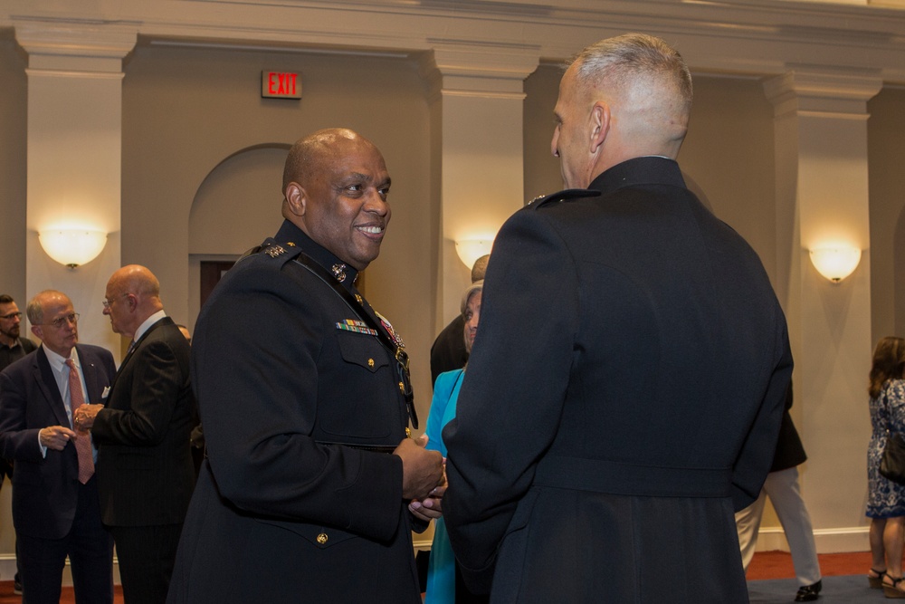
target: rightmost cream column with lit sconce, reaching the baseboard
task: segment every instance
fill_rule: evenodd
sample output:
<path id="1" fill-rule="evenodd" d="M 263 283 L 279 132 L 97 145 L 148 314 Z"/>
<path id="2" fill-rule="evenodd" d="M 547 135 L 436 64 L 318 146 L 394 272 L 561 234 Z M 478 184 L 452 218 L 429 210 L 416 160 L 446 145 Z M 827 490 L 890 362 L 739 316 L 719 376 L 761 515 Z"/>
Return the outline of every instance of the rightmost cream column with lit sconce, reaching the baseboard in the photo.
<path id="1" fill-rule="evenodd" d="M 798 68 L 765 83 L 775 107 L 775 285 L 795 355 L 792 416 L 808 455 L 802 490 L 824 552 L 867 549 L 867 101 L 880 88 L 879 78 Z M 862 260 L 830 283 L 808 251 L 838 242 L 861 248 Z"/>

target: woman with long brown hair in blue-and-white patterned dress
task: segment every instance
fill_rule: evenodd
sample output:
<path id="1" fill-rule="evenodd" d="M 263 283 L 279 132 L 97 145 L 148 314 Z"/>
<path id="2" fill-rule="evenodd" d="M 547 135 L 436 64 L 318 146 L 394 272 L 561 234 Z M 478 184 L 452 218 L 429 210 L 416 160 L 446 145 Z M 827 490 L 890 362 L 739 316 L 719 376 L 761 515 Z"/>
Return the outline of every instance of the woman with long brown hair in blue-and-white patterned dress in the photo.
<path id="1" fill-rule="evenodd" d="M 871 519 L 872 588 L 887 598 L 905 598 L 902 543 L 905 528 L 905 485 L 880 474 L 887 430 L 905 433 L 905 340 L 887 337 L 873 353 L 871 384 L 871 445 L 867 449 L 867 516 Z"/>

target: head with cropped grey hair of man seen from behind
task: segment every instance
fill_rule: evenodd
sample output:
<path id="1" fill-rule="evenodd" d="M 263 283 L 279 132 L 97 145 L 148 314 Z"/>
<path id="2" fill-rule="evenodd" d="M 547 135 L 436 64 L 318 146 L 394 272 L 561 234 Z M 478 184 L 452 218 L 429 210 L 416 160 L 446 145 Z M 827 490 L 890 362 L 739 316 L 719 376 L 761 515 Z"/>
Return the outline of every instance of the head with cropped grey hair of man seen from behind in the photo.
<path id="1" fill-rule="evenodd" d="M 626 159 L 676 158 L 690 112 L 691 74 L 660 38 L 625 34 L 588 46 L 568 65 L 555 110 L 552 151 L 567 186 L 587 187 Z"/>

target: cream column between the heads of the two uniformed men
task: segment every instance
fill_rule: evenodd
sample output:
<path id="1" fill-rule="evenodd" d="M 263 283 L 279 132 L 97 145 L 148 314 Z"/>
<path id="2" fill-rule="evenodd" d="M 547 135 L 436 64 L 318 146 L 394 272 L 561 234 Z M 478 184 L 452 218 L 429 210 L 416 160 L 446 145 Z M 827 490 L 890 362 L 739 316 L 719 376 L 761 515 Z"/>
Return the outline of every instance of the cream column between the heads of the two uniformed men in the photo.
<path id="1" fill-rule="evenodd" d="M 436 331 L 459 312 L 470 269 L 455 241 L 492 239 L 524 205 L 523 84 L 534 47 L 436 43 L 431 91 L 432 192 L 440 203 Z"/>

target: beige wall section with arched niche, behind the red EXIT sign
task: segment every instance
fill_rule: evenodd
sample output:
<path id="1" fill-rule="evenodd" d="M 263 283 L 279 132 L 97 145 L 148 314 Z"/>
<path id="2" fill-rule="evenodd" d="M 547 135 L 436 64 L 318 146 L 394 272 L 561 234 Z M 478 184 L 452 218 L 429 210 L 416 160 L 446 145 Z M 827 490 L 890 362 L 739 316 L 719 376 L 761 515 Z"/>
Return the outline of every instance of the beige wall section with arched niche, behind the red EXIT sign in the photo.
<path id="1" fill-rule="evenodd" d="M 262 99 L 264 69 L 300 72 L 301 101 Z M 426 418 L 433 341 L 431 242 L 438 210 L 429 196 L 429 116 L 416 60 L 140 46 L 125 72 L 123 262 L 147 264 L 161 281 L 168 312 L 190 326 L 198 309 L 189 301 L 198 283 L 189 271 L 189 216 L 199 189 L 204 199 L 198 211 L 216 216 L 216 222 L 207 225 L 204 243 L 194 253 L 241 254 L 281 224 L 285 152 L 234 154 L 259 146 L 285 148 L 332 126 L 356 129 L 376 143 L 393 178 L 393 216 L 380 257 L 367 269 L 366 293 L 405 339 L 417 405 Z M 225 177 L 229 170 L 215 168 L 226 160 L 247 160 L 243 168 L 260 187 L 249 195 L 249 187 L 205 182 L 212 172 L 212 179 Z M 208 192 L 212 188 L 216 198 Z"/>

